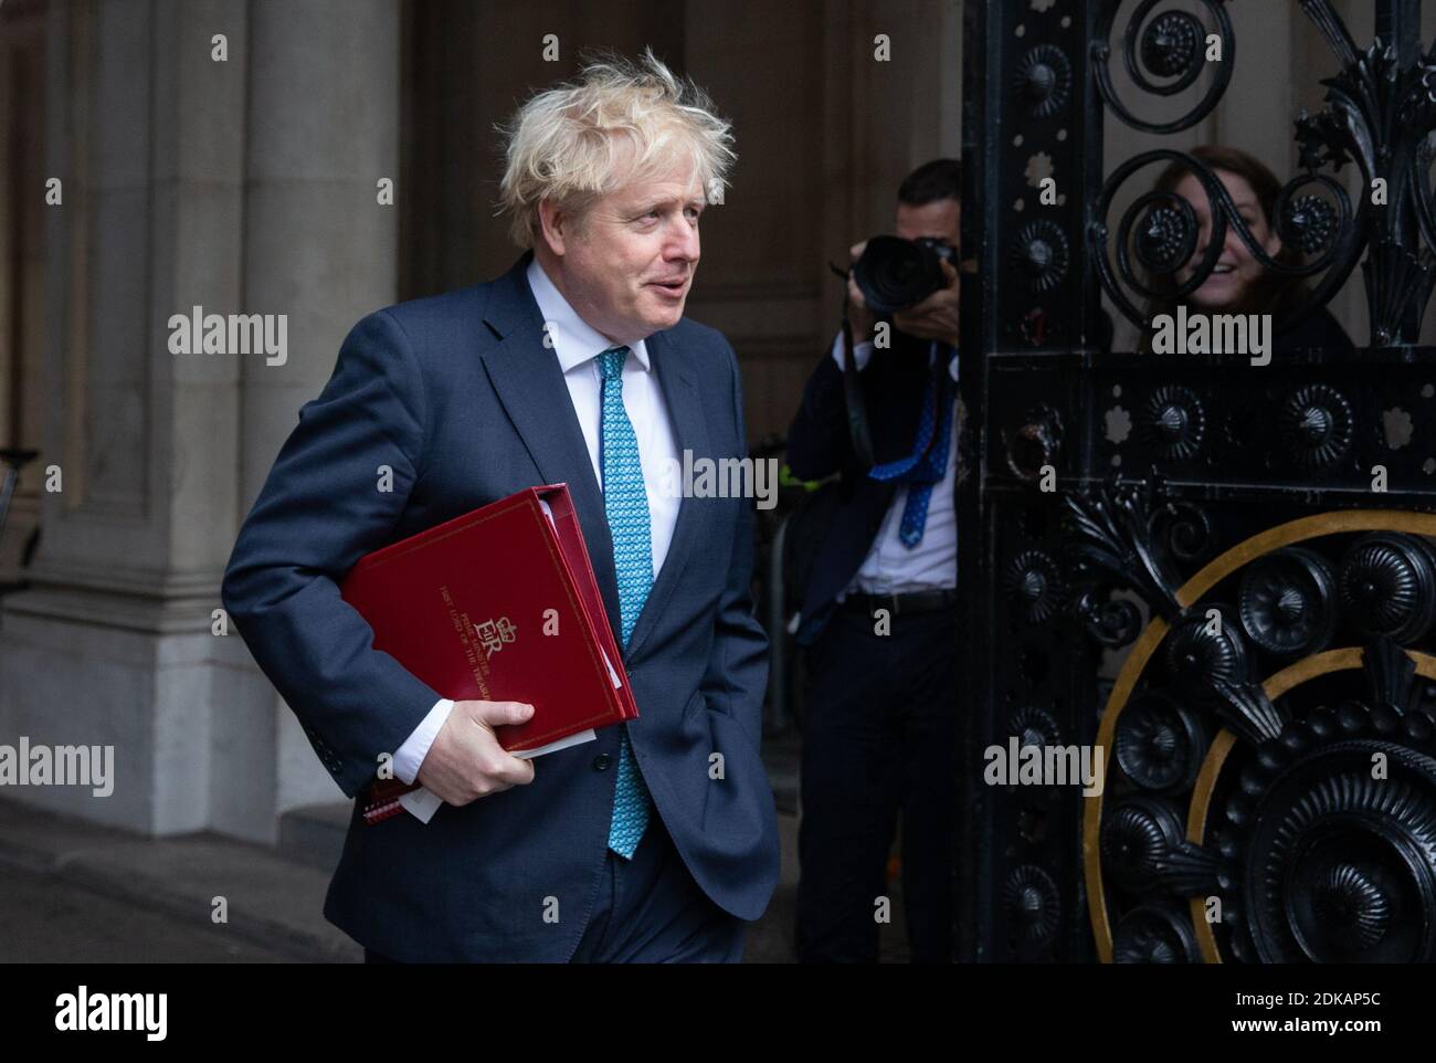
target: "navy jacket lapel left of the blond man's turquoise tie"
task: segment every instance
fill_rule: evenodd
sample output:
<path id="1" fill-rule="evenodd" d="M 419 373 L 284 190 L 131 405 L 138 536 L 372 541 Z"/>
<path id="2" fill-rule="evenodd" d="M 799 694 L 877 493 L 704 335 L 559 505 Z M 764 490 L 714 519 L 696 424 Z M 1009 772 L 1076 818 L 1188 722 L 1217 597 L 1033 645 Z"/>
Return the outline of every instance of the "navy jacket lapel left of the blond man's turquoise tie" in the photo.
<path id="1" fill-rule="evenodd" d="M 530 251 L 518 260 L 498 282 L 484 309 L 484 323 L 498 338 L 498 343 L 482 355 L 484 368 L 544 483 L 569 484 L 603 609 L 616 638 L 619 583 L 603 494 L 593 475 L 583 428 L 569 401 L 563 369 L 553 351 L 543 345 L 543 316 L 524 277 L 531 259 Z"/>

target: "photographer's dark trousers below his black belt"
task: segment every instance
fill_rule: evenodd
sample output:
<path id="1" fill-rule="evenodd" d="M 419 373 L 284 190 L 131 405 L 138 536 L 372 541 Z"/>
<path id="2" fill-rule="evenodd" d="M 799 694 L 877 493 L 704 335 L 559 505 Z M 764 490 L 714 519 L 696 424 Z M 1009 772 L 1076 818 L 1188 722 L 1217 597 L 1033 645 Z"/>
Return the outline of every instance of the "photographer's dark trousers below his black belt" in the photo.
<path id="1" fill-rule="evenodd" d="M 954 957 L 958 612 L 839 608 L 814 642 L 803 725 L 797 948 L 803 962 L 876 962 L 877 898 L 902 816 L 913 962 Z M 892 906 L 892 898 L 889 898 Z"/>

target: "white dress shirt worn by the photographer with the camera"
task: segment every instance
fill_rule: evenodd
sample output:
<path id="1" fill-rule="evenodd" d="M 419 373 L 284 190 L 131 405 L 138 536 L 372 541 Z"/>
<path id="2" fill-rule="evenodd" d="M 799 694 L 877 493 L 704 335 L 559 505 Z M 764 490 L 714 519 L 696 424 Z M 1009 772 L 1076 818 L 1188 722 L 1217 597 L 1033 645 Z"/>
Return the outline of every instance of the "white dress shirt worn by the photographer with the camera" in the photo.
<path id="1" fill-rule="evenodd" d="M 862 372 L 873 356 L 872 340 L 853 346 L 853 363 Z M 833 361 L 843 368 L 843 333 L 833 340 Z M 952 379 L 958 379 L 958 359 L 952 359 Z M 860 592 L 870 595 L 905 595 L 913 590 L 951 589 L 958 585 L 958 514 L 954 509 L 954 484 L 958 468 L 958 418 L 952 417 L 952 438 L 948 440 L 948 467 L 942 480 L 932 486 L 928 500 L 928 519 L 922 539 L 909 549 L 899 533 L 902 511 L 908 504 L 908 484 L 898 484 L 883 523 L 877 529 L 862 567 L 847 586 L 837 595 L 841 602 L 847 595 Z"/>

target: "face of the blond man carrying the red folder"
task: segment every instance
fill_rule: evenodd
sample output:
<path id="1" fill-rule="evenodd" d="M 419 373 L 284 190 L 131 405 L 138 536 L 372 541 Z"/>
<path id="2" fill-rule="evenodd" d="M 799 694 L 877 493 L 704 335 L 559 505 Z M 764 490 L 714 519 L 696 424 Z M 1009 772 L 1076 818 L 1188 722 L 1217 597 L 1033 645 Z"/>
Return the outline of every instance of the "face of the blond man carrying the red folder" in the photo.
<path id="1" fill-rule="evenodd" d="M 560 259 L 561 289 L 583 320 L 635 343 L 684 316 L 698 269 L 704 190 L 691 167 L 629 181 L 543 238 Z"/>

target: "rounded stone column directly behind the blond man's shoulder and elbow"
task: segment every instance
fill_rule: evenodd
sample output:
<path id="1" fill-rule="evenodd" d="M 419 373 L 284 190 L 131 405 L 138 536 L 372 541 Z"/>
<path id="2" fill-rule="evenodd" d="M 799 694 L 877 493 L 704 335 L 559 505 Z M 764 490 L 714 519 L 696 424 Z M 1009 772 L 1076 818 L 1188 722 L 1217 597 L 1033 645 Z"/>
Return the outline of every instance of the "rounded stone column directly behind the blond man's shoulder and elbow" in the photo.
<path id="1" fill-rule="evenodd" d="M 240 519 L 345 335 L 396 299 L 398 207 L 376 185 L 399 178 L 399 36 L 396 0 L 250 6 L 244 309 L 286 315 L 289 352 L 241 359 Z M 215 534 L 228 549 L 237 530 Z M 217 827 L 261 836 L 286 809 L 343 800 L 247 654 L 214 704 L 215 747 L 231 751 L 215 758 Z"/>

